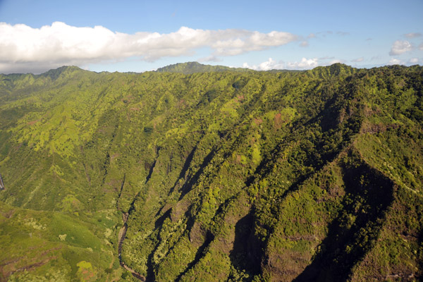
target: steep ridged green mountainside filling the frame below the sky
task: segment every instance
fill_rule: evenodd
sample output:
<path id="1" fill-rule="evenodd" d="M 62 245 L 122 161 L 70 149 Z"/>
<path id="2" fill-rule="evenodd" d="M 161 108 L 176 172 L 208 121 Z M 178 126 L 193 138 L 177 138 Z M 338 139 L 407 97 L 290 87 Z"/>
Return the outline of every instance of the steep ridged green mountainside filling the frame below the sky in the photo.
<path id="1" fill-rule="evenodd" d="M 422 278 L 423 67 L 178 66 L 0 75 L 0 281 Z"/>

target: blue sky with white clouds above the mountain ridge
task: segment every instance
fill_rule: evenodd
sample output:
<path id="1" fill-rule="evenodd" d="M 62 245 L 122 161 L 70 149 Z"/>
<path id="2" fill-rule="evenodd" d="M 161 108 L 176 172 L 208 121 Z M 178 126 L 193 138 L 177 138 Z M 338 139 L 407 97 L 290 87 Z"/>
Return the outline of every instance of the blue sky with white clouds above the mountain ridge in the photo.
<path id="1" fill-rule="evenodd" d="M 0 0 L 0 73 L 423 65 L 423 0 Z"/>

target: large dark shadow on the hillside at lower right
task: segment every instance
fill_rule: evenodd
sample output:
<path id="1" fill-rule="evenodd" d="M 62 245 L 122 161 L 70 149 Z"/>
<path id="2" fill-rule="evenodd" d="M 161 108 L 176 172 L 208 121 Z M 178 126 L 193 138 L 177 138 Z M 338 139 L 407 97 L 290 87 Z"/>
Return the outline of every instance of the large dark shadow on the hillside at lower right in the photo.
<path id="1" fill-rule="evenodd" d="M 372 249 L 393 202 L 394 184 L 363 161 L 343 165 L 345 196 L 312 264 L 294 281 L 345 281 Z"/>

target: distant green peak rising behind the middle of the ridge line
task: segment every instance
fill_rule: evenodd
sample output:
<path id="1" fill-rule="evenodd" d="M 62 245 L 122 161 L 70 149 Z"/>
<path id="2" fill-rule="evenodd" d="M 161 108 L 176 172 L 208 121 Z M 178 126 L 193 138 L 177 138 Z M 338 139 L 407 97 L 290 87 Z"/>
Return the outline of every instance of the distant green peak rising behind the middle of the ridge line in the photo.
<path id="1" fill-rule="evenodd" d="M 184 73 L 185 75 L 191 73 L 211 73 L 217 71 L 249 72 L 252 70 L 249 68 L 203 65 L 202 63 L 197 62 L 176 63 L 174 65 L 164 66 L 163 68 L 157 69 L 157 73 Z"/>

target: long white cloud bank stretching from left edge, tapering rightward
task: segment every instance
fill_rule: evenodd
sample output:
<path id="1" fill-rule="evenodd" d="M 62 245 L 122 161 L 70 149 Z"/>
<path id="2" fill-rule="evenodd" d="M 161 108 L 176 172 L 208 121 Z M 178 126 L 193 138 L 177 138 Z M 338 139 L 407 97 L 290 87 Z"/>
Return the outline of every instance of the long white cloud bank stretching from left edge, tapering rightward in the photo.
<path id="1" fill-rule="evenodd" d="M 195 30 L 176 32 L 112 32 L 106 27 L 73 27 L 55 22 L 41 28 L 0 23 L 0 73 L 45 71 L 63 65 L 119 61 L 139 57 L 156 61 L 162 57 L 195 54 L 209 47 L 212 56 L 234 56 L 297 41 L 289 32 L 262 33 L 250 30 Z"/>

